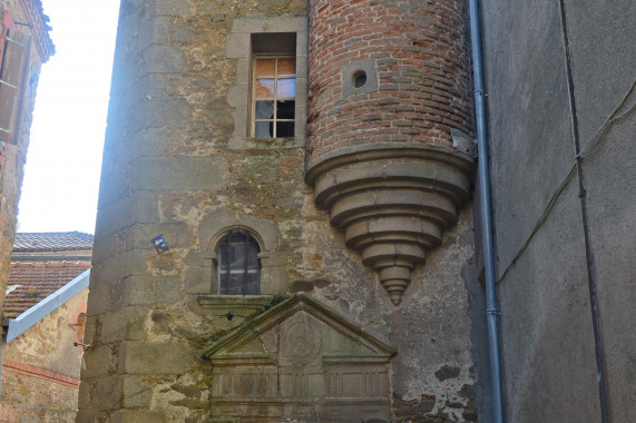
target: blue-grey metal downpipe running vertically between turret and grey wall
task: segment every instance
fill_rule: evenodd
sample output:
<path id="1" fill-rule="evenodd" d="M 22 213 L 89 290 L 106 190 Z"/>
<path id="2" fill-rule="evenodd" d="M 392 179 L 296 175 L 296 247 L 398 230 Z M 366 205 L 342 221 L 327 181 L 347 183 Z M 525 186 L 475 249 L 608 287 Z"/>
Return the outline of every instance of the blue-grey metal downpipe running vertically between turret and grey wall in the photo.
<path id="1" fill-rule="evenodd" d="M 481 29 L 479 1 L 469 0 L 470 42 L 474 85 L 474 117 L 479 150 L 479 199 L 481 204 L 481 228 L 483 244 L 483 267 L 486 273 L 486 318 L 488 321 L 488 344 L 490 356 L 490 383 L 492 387 L 492 421 L 503 423 L 501 393 L 501 357 L 499 348 L 499 309 L 497 306 L 497 282 L 495 281 L 495 255 L 492 243 L 492 208 L 490 205 L 490 175 L 488 164 L 488 126 L 486 120 L 486 91 L 483 90 L 483 58 L 481 52 Z"/>

